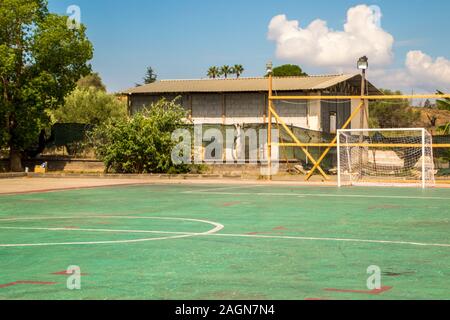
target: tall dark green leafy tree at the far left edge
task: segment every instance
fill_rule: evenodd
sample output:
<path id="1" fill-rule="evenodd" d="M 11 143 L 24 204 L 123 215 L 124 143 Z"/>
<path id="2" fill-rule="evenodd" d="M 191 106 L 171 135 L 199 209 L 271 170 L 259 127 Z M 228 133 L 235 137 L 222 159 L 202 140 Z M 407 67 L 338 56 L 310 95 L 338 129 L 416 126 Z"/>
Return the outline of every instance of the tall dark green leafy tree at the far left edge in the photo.
<path id="1" fill-rule="evenodd" d="M 24 151 L 50 122 L 48 111 L 90 73 L 85 31 L 49 13 L 46 0 L 1 0 L 0 147 L 9 148 L 12 171 L 22 170 Z"/>

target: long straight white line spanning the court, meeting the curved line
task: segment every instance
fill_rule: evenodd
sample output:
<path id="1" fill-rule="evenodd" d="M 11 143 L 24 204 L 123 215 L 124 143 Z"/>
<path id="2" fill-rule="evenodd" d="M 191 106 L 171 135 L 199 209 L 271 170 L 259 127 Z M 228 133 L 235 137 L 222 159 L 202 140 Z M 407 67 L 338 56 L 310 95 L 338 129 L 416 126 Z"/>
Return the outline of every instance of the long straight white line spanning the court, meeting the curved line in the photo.
<path id="1" fill-rule="evenodd" d="M 450 247 L 450 244 L 444 243 L 424 243 L 424 242 L 409 242 L 409 241 L 395 241 L 395 240 L 370 240 L 370 239 L 349 239 L 349 238 L 321 238 L 321 237 L 300 237 L 300 236 L 270 236 L 270 235 L 250 235 L 250 234 L 230 234 L 230 233 L 192 233 L 192 232 L 176 232 L 176 231 L 156 231 L 156 230 L 112 230 L 112 229 L 71 229 L 71 228 L 34 228 L 34 227 L 0 227 L 0 229 L 10 230 L 42 230 L 42 231 L 89 231 L 89 232 L 122 232 L 122 233 L 154 233 L 154 234 L 175 234 L 178 237 L 193 237 L 193 236 L 215 236 L 215 237 L 236 237 L 236 238 L 259 238 L 259 239 L 285 239 L 285 240 L 304 240 L 304 241 L 330 241 L 330 242 L 355 242 L 355 243 L 377 243 L 377 244 L 398 244 L 410 245 L 420 247 Z M 217 230 L 220 231 L 220 230 Z M 217 232 L 216 231 L 216 232 Z M 167 238 L 152 238 L 154 240 L 161 240 Z M 97 244 L 103 242 L 84 244 Z M 68 243 L 79 244 L 79 243 Z M 0 245 L 2 247 L 4 245 Z M 16 245 L 23 246 L 23 245 Z M 31 245 L 30 245 L 31 246 Z"/>

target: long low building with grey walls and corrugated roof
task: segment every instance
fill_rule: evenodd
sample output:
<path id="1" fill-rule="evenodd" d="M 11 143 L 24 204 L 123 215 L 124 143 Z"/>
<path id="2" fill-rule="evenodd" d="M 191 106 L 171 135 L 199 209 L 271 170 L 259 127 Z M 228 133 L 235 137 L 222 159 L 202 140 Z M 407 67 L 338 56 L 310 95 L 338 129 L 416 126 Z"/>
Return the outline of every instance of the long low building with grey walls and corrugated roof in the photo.
<path id="1" fill-rule="evenodd" d="M 323 75 L 273 78 L 274 95 L 360 95 L 361 75 Z M 370 82 L 367 94 L 380 94 Z M 180 97 L 194 124 L 245 125 L 267 121 L 269 81 L 267 78 L 162 80 L 125 90 L 131 113 L 162 97 Z M 286 124 L 333 133 L 359 103 L 354 100 L 276 101 L 274 107 Z M 365 119 L 366 120 L 366 119 Z M 366 120 L 367 121 L 367 120 Z M 367 125 L 367 123 L 366 123 Z M 360 127 L 359 116 L 351 126 Z"/>

